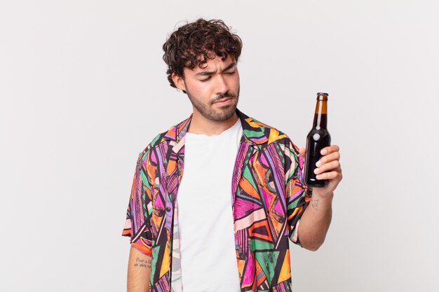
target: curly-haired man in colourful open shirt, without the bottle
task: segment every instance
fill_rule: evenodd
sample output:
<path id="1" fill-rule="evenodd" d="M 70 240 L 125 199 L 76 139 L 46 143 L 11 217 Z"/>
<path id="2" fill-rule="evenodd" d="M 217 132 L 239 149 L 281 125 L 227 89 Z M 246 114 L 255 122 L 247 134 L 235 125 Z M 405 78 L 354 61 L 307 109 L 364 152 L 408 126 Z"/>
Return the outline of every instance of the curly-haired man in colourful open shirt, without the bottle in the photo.
<path id="1" fill-rule="evenodd" d="M 323 244 L 339 147 L 323 149 L 316 173 L 329 182 L 311 190 L 305 150 L 236 108 L 241 48 L 203 19 L 163 45 L 168 81 L 194 111 L 139 154 L 123 230 L 129 292 L 291 291 L 289 240 Z"/>

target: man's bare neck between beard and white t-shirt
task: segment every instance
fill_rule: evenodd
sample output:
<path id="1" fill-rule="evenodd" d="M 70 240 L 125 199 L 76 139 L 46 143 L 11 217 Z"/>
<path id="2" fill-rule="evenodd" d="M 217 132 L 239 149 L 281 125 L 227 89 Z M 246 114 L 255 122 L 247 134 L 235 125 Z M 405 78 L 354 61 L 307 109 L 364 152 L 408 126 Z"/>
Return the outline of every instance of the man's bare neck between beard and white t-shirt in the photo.
<path id="1" fill-rule="evenodd" d="M 194 114 L 192 115 L 191 123 L 189 124 L 187 132 L 193 134 L 205 134 L 208 136 L 221 134 L 225 130 L 229 129 L 229 127 L 235 125 L 238 118 L 239 117 L 235 112 L 234 115 L 227 120 L 217 122 L 215 120 L 205 118 L 203 115 L 201 115 L 201 113 L 194 110 Z"/>

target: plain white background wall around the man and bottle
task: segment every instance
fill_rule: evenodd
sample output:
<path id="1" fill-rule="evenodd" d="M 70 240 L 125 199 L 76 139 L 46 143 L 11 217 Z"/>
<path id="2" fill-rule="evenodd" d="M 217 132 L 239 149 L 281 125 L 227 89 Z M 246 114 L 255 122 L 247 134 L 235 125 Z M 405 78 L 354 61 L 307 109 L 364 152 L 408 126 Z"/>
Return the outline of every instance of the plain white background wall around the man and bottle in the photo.
<path id="1" fill-rule="evenodd" d="M 238 108 L 304 146 L 316 92 L 342 153 L 297 292 L 439 291 L 438 1 L 2 1 L 0 291 L 124 291 L 137 154 L 187 118 L 161 46 L 180 20 L 243 39 Z M 180 22 L 180 25 L 182 22 Z"/>

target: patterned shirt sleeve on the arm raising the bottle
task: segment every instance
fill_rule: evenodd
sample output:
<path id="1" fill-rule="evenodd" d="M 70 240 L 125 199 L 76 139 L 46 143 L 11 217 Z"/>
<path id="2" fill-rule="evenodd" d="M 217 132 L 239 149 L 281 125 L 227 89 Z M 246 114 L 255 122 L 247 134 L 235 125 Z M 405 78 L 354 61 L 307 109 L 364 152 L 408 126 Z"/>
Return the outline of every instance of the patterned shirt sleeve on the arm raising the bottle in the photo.
<path id="1" fill-rule="evenodd" d="M 312 189 L 304 183 L 304 160 L 299 154 L 299 148 L 289 138 L 285 147 L 285 188 L 288 236 L 292 242 L 302 246 L 297 234 L 297 227 L 311 201 Z"/>

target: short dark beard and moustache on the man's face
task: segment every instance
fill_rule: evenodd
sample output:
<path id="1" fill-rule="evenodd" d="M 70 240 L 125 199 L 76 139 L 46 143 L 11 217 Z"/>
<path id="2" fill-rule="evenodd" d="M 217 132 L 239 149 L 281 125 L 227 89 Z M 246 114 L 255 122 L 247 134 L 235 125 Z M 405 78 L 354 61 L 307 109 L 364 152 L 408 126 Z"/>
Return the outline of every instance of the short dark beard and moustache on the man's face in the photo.
<path id="1" fill-rule="evenodd" d="M 222 122 L 234 116 L 236 106 L 238 105 L 239 90 L 240 86 L 238 85 L 236 95 L 227 91 L 226 93 L 217 95 L 212 101 L 203 103 L 200 99 L 194 95 L 191 95 L 191 92 L 189 92 L 188 88 L 186 87 L 187 96 L 189 97 L 189 100 L 195 109 L 199 111 L 203 117 L 209 120 L 214 120 L 215 122 Z M 231 99 L 231 104 L 226 104 L 215 109 L 213 104 L 224 97 L 229 97 Z"/>

